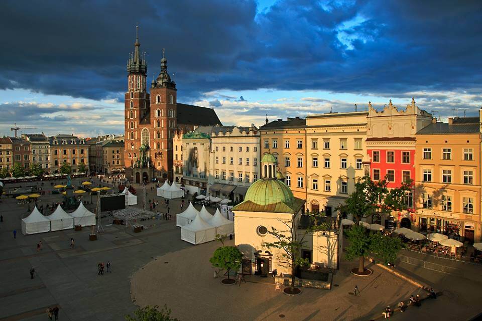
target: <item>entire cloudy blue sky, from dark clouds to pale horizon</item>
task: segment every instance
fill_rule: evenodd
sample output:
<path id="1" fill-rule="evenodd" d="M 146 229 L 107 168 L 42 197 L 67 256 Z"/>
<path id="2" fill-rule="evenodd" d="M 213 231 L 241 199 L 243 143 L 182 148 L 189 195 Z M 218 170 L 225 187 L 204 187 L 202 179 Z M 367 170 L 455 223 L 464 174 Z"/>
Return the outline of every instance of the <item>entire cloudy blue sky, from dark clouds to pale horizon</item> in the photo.
<path id="1" fill-rule="evenodd" d="M 124 132 L 137 23 L 149 80 L 166 48 L 178 101 L 214 107 L 224 124 L 412 96 L 437 117 L 475 115 L 481 21 L 469 0 L 2 1 L 0 135 L 14 123 Z"/>

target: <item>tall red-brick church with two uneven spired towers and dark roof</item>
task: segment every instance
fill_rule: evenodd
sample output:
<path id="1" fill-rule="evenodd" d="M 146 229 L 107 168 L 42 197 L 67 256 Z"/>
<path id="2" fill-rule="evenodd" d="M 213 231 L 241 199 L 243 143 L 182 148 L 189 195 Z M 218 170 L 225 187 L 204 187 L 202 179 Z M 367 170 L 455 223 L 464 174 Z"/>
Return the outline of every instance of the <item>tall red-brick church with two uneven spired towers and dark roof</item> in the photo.
<path id="1" fill-rule="evenodd" d="M 211 108 L 177 103 L 176 83 L 161 59 L 161 72 L 147 88 L 147 63 L 136 37 L 128 60 L 125 94 L 126 175 L 136 183 L 153 178 L 173 179 L 173 137 L 176 130 L 200 124 L 220 124 Z M 186 119 L 189 118 L 189 119 Z"/>

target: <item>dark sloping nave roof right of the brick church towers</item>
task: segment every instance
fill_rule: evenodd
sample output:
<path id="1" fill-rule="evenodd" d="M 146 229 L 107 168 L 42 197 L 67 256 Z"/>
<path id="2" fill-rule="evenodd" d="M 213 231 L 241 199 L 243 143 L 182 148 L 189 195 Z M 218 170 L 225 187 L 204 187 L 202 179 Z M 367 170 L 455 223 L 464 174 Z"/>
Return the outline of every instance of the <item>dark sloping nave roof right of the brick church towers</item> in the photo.
<path id="1" fill-rule="evenodd" d="M 222 126 L 213 108 L 177 103 L 177 123 L 194 126 Z"/>

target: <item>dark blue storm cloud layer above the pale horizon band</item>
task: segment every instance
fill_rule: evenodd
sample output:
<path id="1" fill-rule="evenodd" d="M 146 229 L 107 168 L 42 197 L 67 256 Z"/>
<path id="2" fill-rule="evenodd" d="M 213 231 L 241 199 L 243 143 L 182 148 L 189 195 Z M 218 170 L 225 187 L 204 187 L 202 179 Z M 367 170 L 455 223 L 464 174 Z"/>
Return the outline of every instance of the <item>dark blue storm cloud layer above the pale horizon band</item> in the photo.
<path id="1" fill-rule="evenodd" d="M 0 88 L 119 98 L 140 23 L 148 77 L 162 48 L 179 100 L 258 88 L 397 95 L 477 90 L 480 1 L 0 3 Z"/>

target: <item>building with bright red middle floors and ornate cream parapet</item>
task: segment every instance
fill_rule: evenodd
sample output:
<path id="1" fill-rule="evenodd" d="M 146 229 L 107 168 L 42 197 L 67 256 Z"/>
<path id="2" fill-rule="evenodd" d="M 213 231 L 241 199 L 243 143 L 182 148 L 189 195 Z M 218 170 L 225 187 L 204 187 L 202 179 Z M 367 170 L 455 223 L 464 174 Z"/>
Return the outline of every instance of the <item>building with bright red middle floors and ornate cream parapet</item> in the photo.
<path id="1" fill-rule="evenodd" d="M 415 182 L 415 134 L 431 123 L 432 115 L 418 108 L 414 98 L 405 110 L 399 110 L 391 100 L 382 111 L 377 111 L 369 103 L 366 145 L 371 179 L 386 179 L 388 188 L 398 188 L 402 182 Z M 386 228 L 411 228 L 413 197 L 412 190 L 407 194 L 409 211 L 392 213 L 388 217 L 374 215 L 370 223 L 382 224 Z"/>

